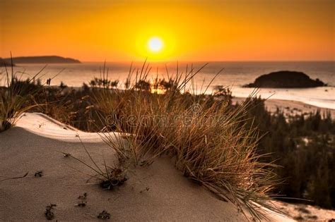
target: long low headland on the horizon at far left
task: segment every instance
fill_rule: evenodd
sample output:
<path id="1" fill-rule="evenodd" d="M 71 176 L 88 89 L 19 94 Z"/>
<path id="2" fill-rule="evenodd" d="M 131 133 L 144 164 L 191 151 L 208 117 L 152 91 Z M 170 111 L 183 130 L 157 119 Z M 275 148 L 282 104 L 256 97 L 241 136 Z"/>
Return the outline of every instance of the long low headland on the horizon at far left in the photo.
<path id="1" fill-rule="evenodd" d="M 4 58 L 4 61 L 11 63 L 11 58 Z M 81 61 L 61 56 L 21 56 L 13 57 L 13 63 L 81 63 Z"/>

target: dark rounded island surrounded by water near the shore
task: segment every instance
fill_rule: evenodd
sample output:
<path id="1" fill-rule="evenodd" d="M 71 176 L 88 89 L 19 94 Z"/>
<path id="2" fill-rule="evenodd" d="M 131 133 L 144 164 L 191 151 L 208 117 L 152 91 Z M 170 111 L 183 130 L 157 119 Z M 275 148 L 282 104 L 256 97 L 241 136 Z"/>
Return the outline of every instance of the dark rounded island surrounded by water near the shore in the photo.
<path id="1" fill-rule="evenodd" d="M 253 83 L 244 87 L 259 88 L 308 88 L 327 86 L 319 79 L 312 80 L 308 75 L 296 71 L 278 71 L 261 75 Z"/>

